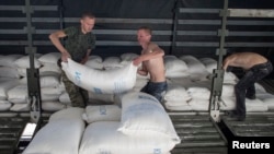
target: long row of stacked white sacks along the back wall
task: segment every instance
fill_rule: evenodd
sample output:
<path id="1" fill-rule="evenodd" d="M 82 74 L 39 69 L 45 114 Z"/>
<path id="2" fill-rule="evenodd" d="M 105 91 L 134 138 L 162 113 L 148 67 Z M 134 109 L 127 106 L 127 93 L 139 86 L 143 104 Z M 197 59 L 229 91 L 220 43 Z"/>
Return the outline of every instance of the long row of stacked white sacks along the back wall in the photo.
<path id="1" fill-rule="evenodd" d="M 106 57 L 105 59 L 100 56 L 90 56 L 85 67 L 92 70 L 115 73 L 136 57 L 138 55 L 130 52 L 123 54 L 119 57 Z M 61 70 L 57 66 L 59 58 L 59 52 L 36 55 L 34 57 L 35 68 L 39 69 L 41 74 L 42 107 L 44 110 L 55 111 L 71 106 L 60 79 Z M 26 86 L 26 69 L 30 68 L 28 56 L 0 56 L 0 110 L 28 110 Z M 181 57 L 164 56 L 164 66 L 169 85 L 163 96 L 165 107 L 170 110 L 208 110 L 212 86 L 210 75 L 213 69 L 217 68 L 217 61 L 213 58 L 197 59 L 190 55 Z M 112 76 L 107 78 L 111 79 Z M 135 79 L 135 76 L 132 79 Z M 148 80 L 149 75 L 136 74 L 133 91 L 139 92 Z M 233 85 L 237 81 L 238 79 L 233 73 L 225 73 L 222 103 L 220 104 L 222 110 L 231 110 L 236 107 Z M 103 84 L 104 82 L 101 83 L 101 85 Z M 122 86 L 121 83 L 117 85 Z M 256 90 L 258 99 L 247 99 L 248 111 L 273 109 L 274 96 L 266 93 L 259 84 L 256 84 Z M 113 104 L 118 96 L 119 94 L 89 91 L 90 102 L 95 104 Z M 251 104 L 249 104 L 250 102 Z"/>

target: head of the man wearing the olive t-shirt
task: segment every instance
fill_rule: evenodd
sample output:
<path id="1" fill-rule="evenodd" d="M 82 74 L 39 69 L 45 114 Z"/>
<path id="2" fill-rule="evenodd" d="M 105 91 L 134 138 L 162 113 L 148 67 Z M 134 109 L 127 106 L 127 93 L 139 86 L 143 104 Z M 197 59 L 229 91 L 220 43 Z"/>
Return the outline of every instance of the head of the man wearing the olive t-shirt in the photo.
<path id="1" fill-rule="evenodd" d="M 95 16 L 91 12 L 84 12 L 80 20 L 82 33 L 92 31 L 95 24 Z"/>

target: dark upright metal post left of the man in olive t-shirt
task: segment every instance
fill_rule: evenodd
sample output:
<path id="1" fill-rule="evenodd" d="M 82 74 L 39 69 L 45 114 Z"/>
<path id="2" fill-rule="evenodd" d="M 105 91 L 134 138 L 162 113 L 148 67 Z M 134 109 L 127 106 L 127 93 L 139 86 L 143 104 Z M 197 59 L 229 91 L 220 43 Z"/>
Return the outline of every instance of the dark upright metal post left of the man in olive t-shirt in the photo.
<path id="1" fill-rule="evenodd" d="M 23 13 L 26 14 L 26 34 L 27 34 L 27 47 L 25 52 L 30 55 L 30 69 L 27 72 L 27 91 L 28 91 L 28 104 L 31 105 L 31 120 L 38 123 L 41 119 L 41 85 L 39 85 L 39 70 L 34 67 L 34 56 L 36 48 L 33 47 L 32 34 L 35 32 L 32 27 L 32 13 L 33 8 L 31 7 L 30 0 L 25 0 L 25 9 Z"/>

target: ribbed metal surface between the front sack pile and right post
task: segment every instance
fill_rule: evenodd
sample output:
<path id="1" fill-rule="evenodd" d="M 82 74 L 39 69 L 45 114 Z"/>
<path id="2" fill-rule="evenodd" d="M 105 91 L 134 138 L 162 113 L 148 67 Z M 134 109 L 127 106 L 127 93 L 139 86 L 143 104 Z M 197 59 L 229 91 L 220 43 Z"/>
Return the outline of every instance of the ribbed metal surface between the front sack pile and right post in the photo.
<path id="1" fill-rule="evenodd" d="M 227 141 L 208 115 L 170 115 L 182 142 L 172 154 L 226 154 Z"/>

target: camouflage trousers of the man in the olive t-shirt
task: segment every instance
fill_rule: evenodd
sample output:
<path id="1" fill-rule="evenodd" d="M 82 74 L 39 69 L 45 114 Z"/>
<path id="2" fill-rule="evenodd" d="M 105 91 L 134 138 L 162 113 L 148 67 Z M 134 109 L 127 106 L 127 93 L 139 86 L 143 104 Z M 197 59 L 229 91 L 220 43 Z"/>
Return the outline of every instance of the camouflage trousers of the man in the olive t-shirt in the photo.
<path id="1" fill-rule="evenodd" d="M 66 87 L 66 91 L 69 95 L 69 98 L 71 100 L 72 107 L 82 107 L 84 108 L 88 100 L 89 100 L 89 93 L 88 91 L 77 86 L 73 82 L 71 82 L 66 73 L 61 71 L 61 79 L 64 82 L 64 85 Z"/>

